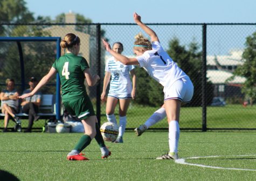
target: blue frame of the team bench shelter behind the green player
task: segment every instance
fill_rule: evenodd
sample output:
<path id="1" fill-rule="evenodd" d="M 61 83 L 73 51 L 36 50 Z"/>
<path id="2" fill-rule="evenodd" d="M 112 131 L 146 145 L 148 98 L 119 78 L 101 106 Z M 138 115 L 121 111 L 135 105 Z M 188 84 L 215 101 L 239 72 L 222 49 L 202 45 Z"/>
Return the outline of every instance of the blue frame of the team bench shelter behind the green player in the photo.
<path id="1" fill-rule="evenodd" d="M 24 58 L 22 45 L 20 42 L 23 41 L 55 41 L 56 42 L 56 59 L 60 57 L 60 37 L 0 37 L 0 41 L 16 41 L 19 52 L 20 62 L 20 77 L 22 78 L 22 90 L 25 89 L 25 69 L 24 69 Z M 60 120 L 60 78 L 59 74 L 56 75 L 56 119 Z"/>

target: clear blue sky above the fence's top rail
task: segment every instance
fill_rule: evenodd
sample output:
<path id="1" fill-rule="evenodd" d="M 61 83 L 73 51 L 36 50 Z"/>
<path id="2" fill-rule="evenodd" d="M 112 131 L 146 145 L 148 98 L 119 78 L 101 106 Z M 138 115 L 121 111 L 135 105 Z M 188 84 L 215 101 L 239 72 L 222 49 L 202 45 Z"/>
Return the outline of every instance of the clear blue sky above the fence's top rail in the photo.
<path id="1" fill-rule="evenodd" d="M 255 23 L 255 0 L 25 0 L 35 16 L 70 10 L 93 23 L 133 23 L 133 12 L 144 23 Z"/>

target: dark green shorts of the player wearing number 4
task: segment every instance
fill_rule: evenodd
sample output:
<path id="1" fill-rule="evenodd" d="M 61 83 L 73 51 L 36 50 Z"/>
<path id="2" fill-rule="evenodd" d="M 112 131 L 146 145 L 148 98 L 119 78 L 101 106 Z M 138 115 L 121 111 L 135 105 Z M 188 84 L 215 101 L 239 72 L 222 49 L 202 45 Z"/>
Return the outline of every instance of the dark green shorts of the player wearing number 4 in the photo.
<path id="1" fill-rule="evenodd" d="M 88 96 L 63 102 L 63 105 L 68 113 L 77 116 L 79 120 L 85 120 L 87 117 L 95 115 L 92 102 Z"/>

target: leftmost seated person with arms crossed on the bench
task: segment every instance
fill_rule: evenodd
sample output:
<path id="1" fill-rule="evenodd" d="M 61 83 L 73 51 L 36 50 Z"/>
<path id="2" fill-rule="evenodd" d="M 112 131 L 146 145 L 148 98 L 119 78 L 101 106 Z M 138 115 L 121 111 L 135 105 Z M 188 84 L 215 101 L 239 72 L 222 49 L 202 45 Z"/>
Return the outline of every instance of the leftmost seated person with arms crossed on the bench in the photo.
<path id="1" fill-rule="evenodd" d="M 20 119 L 15 114 L 18 113 L 18 96 L 19 93 L 15 89 L 15 82 L 13 79 L 6 79 L 6 89 L 4 89 L 0 94 L 2 113 L 4 114 L 4 129 L 3 132 L 7 131 L 10 116 L 16 122 Z"/>

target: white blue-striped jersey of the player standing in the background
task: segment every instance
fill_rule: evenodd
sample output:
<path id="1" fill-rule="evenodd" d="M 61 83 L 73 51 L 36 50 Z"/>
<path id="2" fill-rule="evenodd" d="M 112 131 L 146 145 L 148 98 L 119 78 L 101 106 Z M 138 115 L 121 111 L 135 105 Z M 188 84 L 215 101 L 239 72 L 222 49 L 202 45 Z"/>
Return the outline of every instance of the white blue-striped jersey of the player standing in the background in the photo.
<path id="1" fill-rule="evenodd" d="M 129 73 L 134 68 L 133 65 L 124 65 L 120 61 L 116 61 L 114 57 L 107 59 L 105 71 L 111 74 L 109 92 L 130 94 L 133 86 Z"/>

